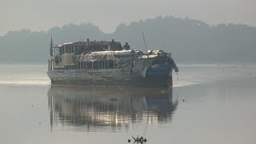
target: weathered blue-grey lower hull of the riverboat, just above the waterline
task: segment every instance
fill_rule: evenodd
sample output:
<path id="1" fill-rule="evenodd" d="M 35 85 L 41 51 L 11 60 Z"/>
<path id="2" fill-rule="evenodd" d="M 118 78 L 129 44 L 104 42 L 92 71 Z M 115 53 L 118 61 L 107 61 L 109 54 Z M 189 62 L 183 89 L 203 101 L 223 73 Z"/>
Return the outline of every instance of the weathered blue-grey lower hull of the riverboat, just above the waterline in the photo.
<path id="1" fill-rule="evenodd" d="M 146 70 L 146 76 L 123 70 L 54 70 L 48 71 L 52 84 L 76 85 L 132 85 L 132 86 L 172 86 L 171 70 Z"/>

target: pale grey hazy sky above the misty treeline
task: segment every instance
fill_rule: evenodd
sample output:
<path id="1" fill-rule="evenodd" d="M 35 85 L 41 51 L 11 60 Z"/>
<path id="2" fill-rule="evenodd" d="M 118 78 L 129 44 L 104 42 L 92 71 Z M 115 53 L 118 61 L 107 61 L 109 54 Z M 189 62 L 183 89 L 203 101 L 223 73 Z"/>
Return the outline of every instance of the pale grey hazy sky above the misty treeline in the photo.
<path id="1" fill-rule="evenodd" d="M 255 14 L 256 0 L 0 0 L 0 35 L 81 22 L 113 32 L 120 23 L 158 15 L 256 26 Z"/>

